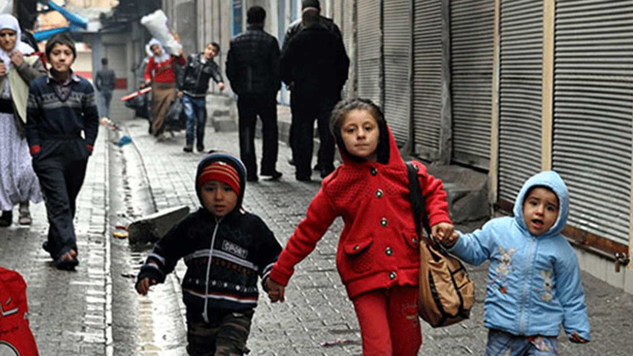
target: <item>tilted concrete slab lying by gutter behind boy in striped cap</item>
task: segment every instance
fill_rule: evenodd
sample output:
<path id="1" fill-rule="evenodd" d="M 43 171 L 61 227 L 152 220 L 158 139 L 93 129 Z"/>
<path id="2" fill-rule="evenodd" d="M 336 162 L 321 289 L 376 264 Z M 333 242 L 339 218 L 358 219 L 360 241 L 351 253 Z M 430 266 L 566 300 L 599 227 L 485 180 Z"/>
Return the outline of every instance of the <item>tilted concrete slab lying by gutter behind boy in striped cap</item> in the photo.
<path id="1" fill-rule="evenodd" d="M 184 205 L 161 210 L 132 222 L 128 226 L 130 244 L 158 241 L 187 214 L 189 214 L 189 207 Z"/>

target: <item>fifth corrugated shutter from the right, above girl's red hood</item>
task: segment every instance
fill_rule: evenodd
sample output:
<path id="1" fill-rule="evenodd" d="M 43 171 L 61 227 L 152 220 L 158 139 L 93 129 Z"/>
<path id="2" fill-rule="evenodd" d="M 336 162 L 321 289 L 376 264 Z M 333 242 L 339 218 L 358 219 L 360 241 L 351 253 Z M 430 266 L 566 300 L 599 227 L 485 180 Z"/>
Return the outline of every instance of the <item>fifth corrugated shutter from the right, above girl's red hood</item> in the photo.
<path id="1" fill-rule="evenodd" d="M 384 2 L 385 118 L 398 146 L 409 137 L 411 115 L 411 1 Z"/>

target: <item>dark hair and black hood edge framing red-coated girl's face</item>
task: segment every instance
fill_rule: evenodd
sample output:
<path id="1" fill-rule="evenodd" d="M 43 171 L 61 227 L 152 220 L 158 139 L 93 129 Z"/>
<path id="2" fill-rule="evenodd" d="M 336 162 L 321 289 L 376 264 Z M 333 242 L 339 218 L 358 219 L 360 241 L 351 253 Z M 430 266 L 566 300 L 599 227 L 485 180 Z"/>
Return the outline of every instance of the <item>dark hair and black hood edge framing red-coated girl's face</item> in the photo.
<path id="1" fill-rule="evenodd" d="M 363 162 L 360 157 L 351 155 L 348 149 L 345 147 L 344 141 L 341 137 L 341 127 L 345 120 L 346 115 L 352 110 L 367 110 L 373 118 L 376 119 L 379 129 L 379 142 L 377 151 L 377 161 L 379 163 L 386 164 L 389 162 L 389 130 L 387 129 L 387 121 L 382 110 L 375 105 L 370 99 L 352 98 L 339 101 L 334 109 L 332 109 L 332 115 L 330 116 L 330 132 L 334 136 L 339 148 L 351 157 L 356 162 Z"/>

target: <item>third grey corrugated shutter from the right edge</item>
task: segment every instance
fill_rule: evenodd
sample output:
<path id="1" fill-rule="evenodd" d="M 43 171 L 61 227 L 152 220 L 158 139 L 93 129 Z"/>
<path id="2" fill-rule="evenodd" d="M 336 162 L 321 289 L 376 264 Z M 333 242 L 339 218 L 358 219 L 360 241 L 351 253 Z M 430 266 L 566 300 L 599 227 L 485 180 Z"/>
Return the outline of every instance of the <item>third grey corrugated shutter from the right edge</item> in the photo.
<path id="1" fill-rule="evenodd" d="M 490 167 L 494 0 L 451 1 L 453 161 Z"/>

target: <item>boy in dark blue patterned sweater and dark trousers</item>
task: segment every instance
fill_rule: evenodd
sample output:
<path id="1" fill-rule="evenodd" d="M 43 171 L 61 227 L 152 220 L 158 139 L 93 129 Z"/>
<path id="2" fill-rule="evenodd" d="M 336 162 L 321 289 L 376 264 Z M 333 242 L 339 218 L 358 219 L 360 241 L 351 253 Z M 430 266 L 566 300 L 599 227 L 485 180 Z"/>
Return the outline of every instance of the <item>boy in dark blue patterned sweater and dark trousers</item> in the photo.
<path id="1" fill-rule="evenodd" d="M 92 84 L 70 69 L 75 58 L 72 37 L 53 35 L 46 43 L 51 68 L 48 75 L 31 82 L 27 104 L 28 146 L 46 196 L 49 231 L 44 250 L 63 270 L 73 270 L 79 263 L 73 226 L 75 199 L 99 127 Z"/>

